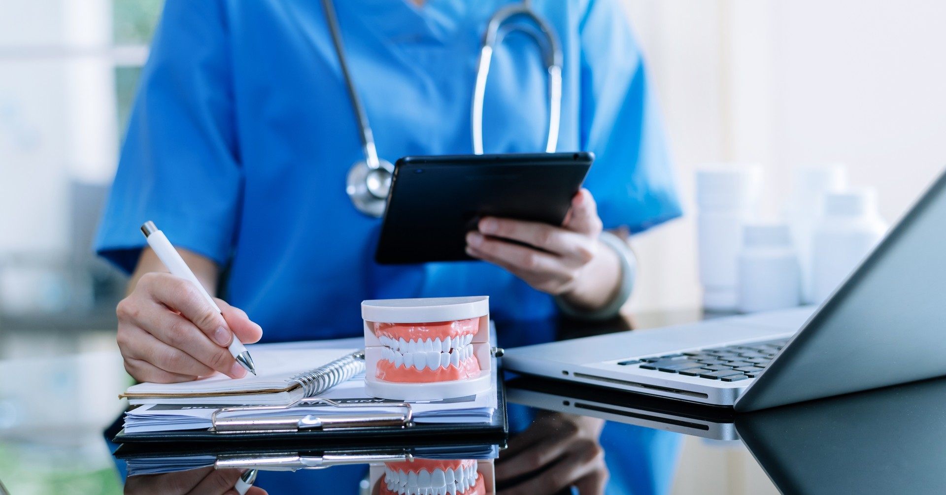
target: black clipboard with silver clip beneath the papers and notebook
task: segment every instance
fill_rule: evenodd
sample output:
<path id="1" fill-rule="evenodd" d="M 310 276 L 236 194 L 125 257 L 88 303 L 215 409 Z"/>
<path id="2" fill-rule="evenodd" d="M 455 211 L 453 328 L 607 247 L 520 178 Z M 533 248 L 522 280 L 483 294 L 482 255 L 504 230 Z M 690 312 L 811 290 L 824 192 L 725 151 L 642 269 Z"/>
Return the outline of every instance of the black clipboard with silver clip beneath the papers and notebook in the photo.
<path id="1" fill-rule="evenodd" d="M 280 442 L 289 450 L 337 446 L 383 447 L 403 445 L 410 439 L 412 445 L 443 445 L 444 438 L 451 442 L 474 441 L 504 444 L 509 433 L 506 417 L 505 388 L 501 373 L 496 374 L 497 409 L 489 422 L 415 424 L 410 408 L 397 415 L 301 415 L 283 417 L 240 417 L 233 420 L 217 420 L 210 430 L 184 430 L 171 432 L 126 433 L 124 429 L 114 435 L 118 444 L 174 442 L 179 448 L 185 444 L 229 443 L 252 447 L 260 444 Z M 313 398 L 311 400 L 327 400 Z M 346 405 L 340 404 L 342 407 Z M 391 403 L 382 404 L 391 408 Z M 400 405 L 400 404 L 394 404 Z M 407 404 L 404 404 L 407 405 Z M 249 408 L 222 408 L 223 410 L 272 410 L 288 406 L 252 406 Z M 366 406 L 359 404 L 359 409 Z M 370 406 L 369 406 L 370 407 Z"/>

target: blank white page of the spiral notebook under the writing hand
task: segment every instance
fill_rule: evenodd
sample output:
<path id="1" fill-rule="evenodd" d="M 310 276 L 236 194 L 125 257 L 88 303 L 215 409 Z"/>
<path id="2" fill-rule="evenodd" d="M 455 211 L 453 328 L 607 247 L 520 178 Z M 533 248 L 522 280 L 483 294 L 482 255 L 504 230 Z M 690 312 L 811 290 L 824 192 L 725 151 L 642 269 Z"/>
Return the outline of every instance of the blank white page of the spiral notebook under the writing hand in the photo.
<path id="1" fill-rule="evenodd" d="M 248 373 L 241 379 L 231 379 L 215 373 L 209 377 L 180 383 L 138 383 L 131 385 L 126 394 L 214 394 L 253 393 L 263 390 L 282 390 L 289 380 L 311 369 L 333 362 L 358 349 L 292 349 L 252 348 L 251 354 L 259 376 Z"/>

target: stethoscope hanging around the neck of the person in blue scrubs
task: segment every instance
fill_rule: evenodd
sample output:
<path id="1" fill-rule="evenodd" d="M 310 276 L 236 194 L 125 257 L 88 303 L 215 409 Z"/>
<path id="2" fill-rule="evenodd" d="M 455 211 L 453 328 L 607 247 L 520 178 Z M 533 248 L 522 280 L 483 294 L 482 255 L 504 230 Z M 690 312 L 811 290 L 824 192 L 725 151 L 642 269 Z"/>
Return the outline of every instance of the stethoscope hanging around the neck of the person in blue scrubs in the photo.
<path id="1" fill-rule="evenodd" d="M 375 148 L 375 136 L 368 124 L 368 115 L 364 112 L 351 74 L 348 71 L 348 62 L 342 49 L 342 35 L 339 31 L 338 17 L 332 6 L 332 0 L 322 0 L 325 18 L 328 21 L 328 30 L 335 44 L 335 52 L 339 57 L 342 76 L 348 96 L 351 97 L 352 107 L 358 120 L 361 136 L 361 150 L 364 160 L 359 160 L 348 170 L 345 180 L 345 192 L 361 213 L 372 217 L 381 217 L 384 214 L 388 190 L 391 188 L 391 178 L 394 166 L 391 162 L 379 158 Z M 508 23 L 511 19 L 532 21 L 533 25 L 523 23 Z M 554 152 L 558 144 L 558 127 L 562 110 L 562 48 L 558 44 L 552 27 L 537 16 L 530 0 L 523 0 L 521 4 L 510 5 L 496 11 L 489 19 L 486 32 L 483 35 L 480 59 L 477 62 L 476 83 L 473 87 L 473 106 L 470 111 L 472 120 L 473 152 L 482 154 L 482 102 L 486 93 L 486 78 L 489 76 L 489 65 L 493 59 L 494 48 L 502 44 L 507 34 L 521 31 L 531 36 L 535 43 L 542 48 L 542 59 L 549 72 L 549 134 L 546 138 L 546 152 Z"/>

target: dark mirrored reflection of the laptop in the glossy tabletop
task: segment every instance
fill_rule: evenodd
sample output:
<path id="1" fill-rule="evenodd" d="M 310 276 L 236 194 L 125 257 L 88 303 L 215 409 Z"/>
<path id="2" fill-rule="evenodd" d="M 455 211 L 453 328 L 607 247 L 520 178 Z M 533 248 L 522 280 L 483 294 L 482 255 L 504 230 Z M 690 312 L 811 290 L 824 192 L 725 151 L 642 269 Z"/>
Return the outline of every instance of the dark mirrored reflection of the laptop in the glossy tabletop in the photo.
<path id="1" fill-rule="evenodd" d="M 741 439 L 783 494 L 946 493 L 946 378 L 728 416 L 560 380 L 519 378 L 507 391 L 534 407 Z"/>

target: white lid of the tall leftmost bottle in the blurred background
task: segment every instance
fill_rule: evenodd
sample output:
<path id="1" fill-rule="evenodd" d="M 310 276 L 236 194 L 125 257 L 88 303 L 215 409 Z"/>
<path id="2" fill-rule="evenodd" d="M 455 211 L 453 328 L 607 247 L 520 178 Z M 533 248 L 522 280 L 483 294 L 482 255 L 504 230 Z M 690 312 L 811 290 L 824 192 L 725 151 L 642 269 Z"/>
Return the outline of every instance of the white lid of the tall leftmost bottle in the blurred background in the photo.
<path id="1" fill-rule="evenodd" d="M 717 166 L 696 171 L 696 203 L 700 208 L 752 206 L 762 192 L 759 166 Z"/>

